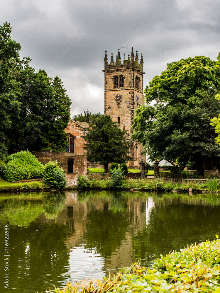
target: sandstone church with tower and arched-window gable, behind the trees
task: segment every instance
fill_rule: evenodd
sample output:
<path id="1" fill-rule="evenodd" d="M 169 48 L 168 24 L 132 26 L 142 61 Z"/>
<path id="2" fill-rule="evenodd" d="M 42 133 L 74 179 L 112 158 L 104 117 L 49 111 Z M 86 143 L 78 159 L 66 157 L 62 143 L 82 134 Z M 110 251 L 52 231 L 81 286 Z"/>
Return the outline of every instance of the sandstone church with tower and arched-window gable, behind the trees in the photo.
<path id="1" fill-rule="evenodd" d="M 130 142 L 130 156 L 134 159 L 128 161 L 128 168 L 139 169 L 139 162 L 145 161 L 144 151 L 137 141 L 131 140 L 133 119 L 135 110 L 144 104 L 143 95 L 143 57 L 139 63 L 138 51 L 134 58 L 133 48 L 128 55 L 128 60 L 123 58 L 121 62 L 120 50 L 114 62 L 111 53 L 110 63 L 107 52 L 104 57 L 104 113 L 111 116 L 111 119 L 118 123 L 119 127 L 127 131 L 126 140 Z M 70 121 L 65 128 L 68 136 L 69 148 L 67 152 L 32 152 L 40 162 L 46 163 L 50 160 L 57 160 L 60 167 L 66 171 L 67 184 L 76 185 L 78 175 L 86 175 L 87 154 L 83 149 L 84 139 L 81 137 L 89 128 L 89 123 Z M 98 166 L 97 164 L 93 164 Z"/>

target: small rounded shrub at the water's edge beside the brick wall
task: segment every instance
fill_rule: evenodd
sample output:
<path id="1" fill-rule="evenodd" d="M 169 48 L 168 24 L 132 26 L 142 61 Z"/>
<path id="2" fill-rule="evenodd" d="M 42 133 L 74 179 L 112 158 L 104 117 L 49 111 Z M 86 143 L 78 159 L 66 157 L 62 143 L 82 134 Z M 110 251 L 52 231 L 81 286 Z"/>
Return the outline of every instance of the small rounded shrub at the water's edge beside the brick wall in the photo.
<path id="1" fill-rule="evenodd" d="M 49 161 L 45 165 L 43 178 L 44 182 L 53 188 L 63 188 L 66 184 L 64 171 L 59 168 L 57 160 Z"/>

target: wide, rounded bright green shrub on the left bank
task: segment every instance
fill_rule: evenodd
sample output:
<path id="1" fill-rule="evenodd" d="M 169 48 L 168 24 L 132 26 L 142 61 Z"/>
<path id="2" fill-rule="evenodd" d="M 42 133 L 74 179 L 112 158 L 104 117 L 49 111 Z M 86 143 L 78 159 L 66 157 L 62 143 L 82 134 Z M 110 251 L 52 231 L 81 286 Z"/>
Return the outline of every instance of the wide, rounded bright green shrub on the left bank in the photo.
<path id="1" fill-rule="evenodd" d="M 0 168 L 1 175 L 9 182 L 43 177 L 44 166 L 29 151 L 19 151 L 8 156 Z"/>

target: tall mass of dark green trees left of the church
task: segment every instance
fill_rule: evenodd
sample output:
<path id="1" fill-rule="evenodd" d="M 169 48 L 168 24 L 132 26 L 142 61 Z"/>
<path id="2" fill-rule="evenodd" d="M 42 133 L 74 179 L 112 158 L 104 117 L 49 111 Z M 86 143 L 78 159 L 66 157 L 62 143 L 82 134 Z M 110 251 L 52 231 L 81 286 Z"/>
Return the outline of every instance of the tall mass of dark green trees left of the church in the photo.
<path id="1" fill-rule="evenodd" d="M 10 23 L 0 26 L 0 153 L 13 149 L 65 151 L 71 101 L 59 77 L 19 59 Z"/>

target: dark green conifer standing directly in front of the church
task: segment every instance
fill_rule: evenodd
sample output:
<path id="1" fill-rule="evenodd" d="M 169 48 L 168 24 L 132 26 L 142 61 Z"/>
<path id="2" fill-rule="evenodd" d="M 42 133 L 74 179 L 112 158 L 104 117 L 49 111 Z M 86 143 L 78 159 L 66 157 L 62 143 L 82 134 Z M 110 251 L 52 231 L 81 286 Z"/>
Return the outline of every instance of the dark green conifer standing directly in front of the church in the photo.
<path id="1" fill-rule="evenodd" d="M 84 149 L 87 150 L 87 158 L 91 162 L 104 164 L 105 173 L 108 172 L 109 163 L 124 163 L 133 160 L 128 156 L 129 142 L 124 138 L 122 131 L 110 115 L 101 115 L 94 119 L 92 128 L 84 137 L 87 141 Z"/>

